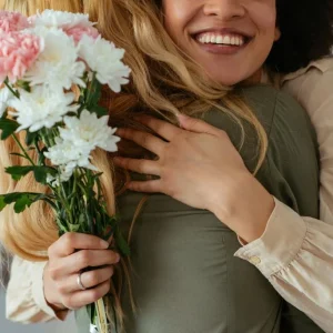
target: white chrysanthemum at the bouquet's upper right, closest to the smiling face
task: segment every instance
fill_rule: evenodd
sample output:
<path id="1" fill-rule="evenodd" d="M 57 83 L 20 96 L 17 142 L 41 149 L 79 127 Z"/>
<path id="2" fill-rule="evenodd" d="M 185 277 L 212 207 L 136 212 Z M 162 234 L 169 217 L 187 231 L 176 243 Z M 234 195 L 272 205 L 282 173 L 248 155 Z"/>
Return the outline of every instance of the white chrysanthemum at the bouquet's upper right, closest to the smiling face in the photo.
<path id="1" fill-rule="evenodd" d="M 121 60 L 124 50 L 99 37 L 93 39 L 83 36 L 79 43 L 79 54 L 91 71 L 97 73 L 97 79 L 102 84 L 108 84 L 114 92 L 120 92 L 121 85 L 129 82 L 130 68 Z"/>

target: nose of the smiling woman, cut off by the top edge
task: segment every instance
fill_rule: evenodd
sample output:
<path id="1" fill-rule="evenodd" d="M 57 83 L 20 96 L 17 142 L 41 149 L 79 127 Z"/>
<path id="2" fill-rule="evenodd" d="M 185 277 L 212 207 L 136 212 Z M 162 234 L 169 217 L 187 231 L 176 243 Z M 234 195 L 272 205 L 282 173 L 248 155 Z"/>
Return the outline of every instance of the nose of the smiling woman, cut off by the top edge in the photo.
<path id="1" fill-rule="evenodd" d="M 241 18 L 245 14 L 242 0 L 206 0 L 203 11 L 205 16 L 214 16 L 222 20 Z"/>

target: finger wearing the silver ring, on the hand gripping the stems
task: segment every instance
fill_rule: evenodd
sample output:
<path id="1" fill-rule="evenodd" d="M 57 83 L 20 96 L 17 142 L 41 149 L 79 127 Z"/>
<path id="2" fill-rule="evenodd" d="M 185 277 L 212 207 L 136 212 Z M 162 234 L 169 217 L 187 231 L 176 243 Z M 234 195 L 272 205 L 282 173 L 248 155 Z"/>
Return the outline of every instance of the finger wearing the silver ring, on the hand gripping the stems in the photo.
<path id="1" fill-rule="evenodd" d="M 87 271 L 81 273 L 81 283 L 85 289 L 95 287 L 97 285 L 110 280 L 113 273 L 114 268 L 112 265 Z M 78 284 L 78 273 L 72 274 L 70 278 L 59 282 L 58 289 L 61 294 L 69 294 L 80 291 L 81 289 Z"/>

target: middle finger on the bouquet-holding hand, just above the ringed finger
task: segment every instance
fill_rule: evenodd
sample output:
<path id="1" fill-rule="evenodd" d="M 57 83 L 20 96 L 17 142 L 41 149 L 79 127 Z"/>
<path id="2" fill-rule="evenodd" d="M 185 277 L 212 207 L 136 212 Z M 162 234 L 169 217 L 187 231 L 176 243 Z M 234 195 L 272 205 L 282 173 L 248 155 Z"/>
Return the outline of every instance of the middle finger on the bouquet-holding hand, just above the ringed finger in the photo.
<path id="1" fill-rule="evenodd" d="M 120 255 L 111 250 L 81 250 L 61 260 L 61 264 L 49 268 L 49 274 L 54 281 L 79 273 L 85 268 L 98 268 L 117 264 Z"/>

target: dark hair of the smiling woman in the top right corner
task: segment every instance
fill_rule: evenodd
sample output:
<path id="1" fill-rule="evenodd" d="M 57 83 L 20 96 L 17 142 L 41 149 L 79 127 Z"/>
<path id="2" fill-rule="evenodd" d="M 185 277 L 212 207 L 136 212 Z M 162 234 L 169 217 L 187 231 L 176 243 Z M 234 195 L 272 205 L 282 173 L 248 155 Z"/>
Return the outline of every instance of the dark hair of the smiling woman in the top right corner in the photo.
<path id="1" fill-rule="evenodd" d="M 273 71 L 293 72 L 331 53 L 332 0 L 276 0 L 281 39 L 266 64 Z"/>

